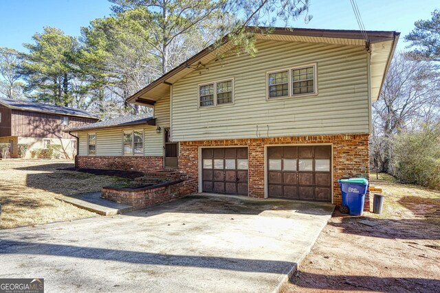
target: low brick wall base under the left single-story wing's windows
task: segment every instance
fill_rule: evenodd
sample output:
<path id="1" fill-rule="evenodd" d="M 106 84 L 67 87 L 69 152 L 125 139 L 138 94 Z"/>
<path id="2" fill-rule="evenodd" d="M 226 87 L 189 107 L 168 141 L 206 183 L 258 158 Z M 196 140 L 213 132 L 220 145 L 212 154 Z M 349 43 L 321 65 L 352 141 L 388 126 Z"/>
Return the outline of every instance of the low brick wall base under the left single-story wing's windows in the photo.
<path id="1" fill-rule="evenodd" d="M 76 156 L 77 168 L 157 172 L 163 169 L 162 156 Z"/>

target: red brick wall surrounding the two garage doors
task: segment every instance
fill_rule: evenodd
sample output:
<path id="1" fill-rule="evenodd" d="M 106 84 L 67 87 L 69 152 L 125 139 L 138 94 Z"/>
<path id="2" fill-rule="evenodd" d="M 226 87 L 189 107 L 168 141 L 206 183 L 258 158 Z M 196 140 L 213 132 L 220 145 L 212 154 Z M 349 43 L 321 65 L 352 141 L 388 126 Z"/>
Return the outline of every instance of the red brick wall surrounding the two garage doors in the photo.
<path id="1" fill-rule="evenodd" d="M 261 139 L 224 139 L 216 141 L 185 141 L 180 143 L 179 170 L 198 178 L 199 147 L 247 146 L 249 159 L 249 196 L 264 198 L 265 145 L 331 143 L 333 145 L 333 203 L 341 204 L 338 179 L 345 176 L 362 176 L 369 179 L 369 134 L 338 134 L 307 137 L 276 137 Z M 366 194 L 365 211 L 370 210 Z"/>

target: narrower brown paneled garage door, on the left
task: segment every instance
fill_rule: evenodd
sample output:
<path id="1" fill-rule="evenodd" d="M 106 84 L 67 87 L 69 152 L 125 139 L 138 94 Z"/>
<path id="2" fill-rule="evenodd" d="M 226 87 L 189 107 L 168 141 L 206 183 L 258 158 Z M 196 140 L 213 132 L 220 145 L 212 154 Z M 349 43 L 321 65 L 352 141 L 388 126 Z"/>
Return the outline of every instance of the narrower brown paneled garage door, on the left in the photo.
<path id="1" fill-rule="evenodd" d="M 203 148 L 203 192 L 248 195 L 248 148 Z"/>

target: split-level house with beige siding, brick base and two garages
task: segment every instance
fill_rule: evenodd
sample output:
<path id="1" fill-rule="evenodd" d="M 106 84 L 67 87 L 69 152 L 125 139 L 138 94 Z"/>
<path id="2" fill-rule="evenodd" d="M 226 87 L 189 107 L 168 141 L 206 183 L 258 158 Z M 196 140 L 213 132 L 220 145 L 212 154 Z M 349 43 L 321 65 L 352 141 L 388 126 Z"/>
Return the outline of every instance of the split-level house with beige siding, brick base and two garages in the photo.
<path id="1" fill-rule="evenodd" d="M 277 28 L 256 34 L 254 58 L 225 38 L 127 99 L 151 106 L 155 125 L 78 131 L 77 164 L 177 168 L 199 192 L 340 204 L 339 178 L 369 178 L 371 103 L 399 38 L 366 34 Z M 137 130 L 142 152 L 122 153 Z"/>

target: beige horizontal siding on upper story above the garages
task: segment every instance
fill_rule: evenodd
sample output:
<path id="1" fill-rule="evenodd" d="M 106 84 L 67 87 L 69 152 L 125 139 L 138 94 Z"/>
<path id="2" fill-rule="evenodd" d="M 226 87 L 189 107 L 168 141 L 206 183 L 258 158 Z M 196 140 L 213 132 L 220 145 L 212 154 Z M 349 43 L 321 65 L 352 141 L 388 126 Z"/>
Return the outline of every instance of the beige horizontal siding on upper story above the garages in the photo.
<path id="1" fill-rule="evenodd" d="M 259 41 L 173 84 L 173 141 L 369 132 L 364 47 Z M 267 99 L 266 73 L 317 63 L 318 95 Z M 198 108 L 198 84 L 234 78 L 234 104 Z"/>

